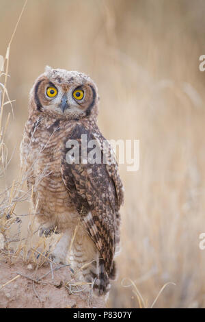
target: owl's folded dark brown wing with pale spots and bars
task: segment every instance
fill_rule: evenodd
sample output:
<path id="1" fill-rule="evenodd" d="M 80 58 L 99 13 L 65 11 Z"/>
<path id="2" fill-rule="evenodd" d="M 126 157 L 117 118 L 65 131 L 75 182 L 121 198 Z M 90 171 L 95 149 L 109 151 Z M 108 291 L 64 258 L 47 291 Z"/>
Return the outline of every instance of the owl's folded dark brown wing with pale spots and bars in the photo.
<path id="1" fill-rule="evenodd" d="M 95 140 L 96 153 L 98 153 L 98 158 L 100 156 L 101 161 L 99 164 L 83 163 L 85 155 L 81 158 L 81 153 L 87 150 L 87 159 L 89 160 L 89 153 L 92 153 L 93 149 L 87 148 L 86 145 L 85 149 L 83 148 L 82 134 L 86 135 L 87 143 L 90 140 Z M 65 149 L 62 156 L 61 173 L 70 198 L 81 214 L 87 232 L 96 244 L 109 274 L 115 253 L 116 212 L 120 209 L 123 201 L 123 187 L 118 174 L 118 164 L 116 162 L 114 164 L 102 162 L 103 156 L 106 159 L 108 154 L 104 153 L 100 144 L 100 141 L 102 142 L 104 139 L 100 132 L 97 136 L 98 138 L 89 129 L 80 125 L 74 127 L 69 139 L 76 140 L 79 144 L 79 163 L 70 164 L 69 153 L 71 150 Z M 105 156 L 106 154 L 107 156 Z M 77 161 L 77 157 L 75 160 Z"/>

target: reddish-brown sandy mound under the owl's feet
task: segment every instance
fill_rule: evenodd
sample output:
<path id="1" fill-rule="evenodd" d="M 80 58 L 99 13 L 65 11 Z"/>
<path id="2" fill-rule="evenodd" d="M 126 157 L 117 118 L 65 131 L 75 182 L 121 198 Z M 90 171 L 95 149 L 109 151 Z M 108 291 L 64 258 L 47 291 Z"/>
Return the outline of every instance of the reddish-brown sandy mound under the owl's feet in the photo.
<path id="1" fill-rule="evenodd" d="M 15 264 L 0 259 L 0 308 L 105 307 L 103 299 L 90 296 L 82 288 L 85 286 L 71 279 L 70 267 L 61 267 L 52 276 L 49 265 L 36 270 L 33 264 L 25 264 L 20 259 Z"/>

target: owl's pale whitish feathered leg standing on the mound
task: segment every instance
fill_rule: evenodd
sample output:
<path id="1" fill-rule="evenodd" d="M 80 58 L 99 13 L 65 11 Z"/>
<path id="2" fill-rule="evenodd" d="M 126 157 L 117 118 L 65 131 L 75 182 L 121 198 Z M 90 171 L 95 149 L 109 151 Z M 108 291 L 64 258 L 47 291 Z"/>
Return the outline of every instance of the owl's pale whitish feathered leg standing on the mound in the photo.
<path id="1" fill-rule="evenodd" d="M 66 230 L 64 235 L 61 237 L 54 251 L 51 253 L 51 259 L 57 264 L 66 264 L 66 256 L 68 254 L 68 248 L 70 246 L 70 241 L 72 237 L 72 232 Z"/>

